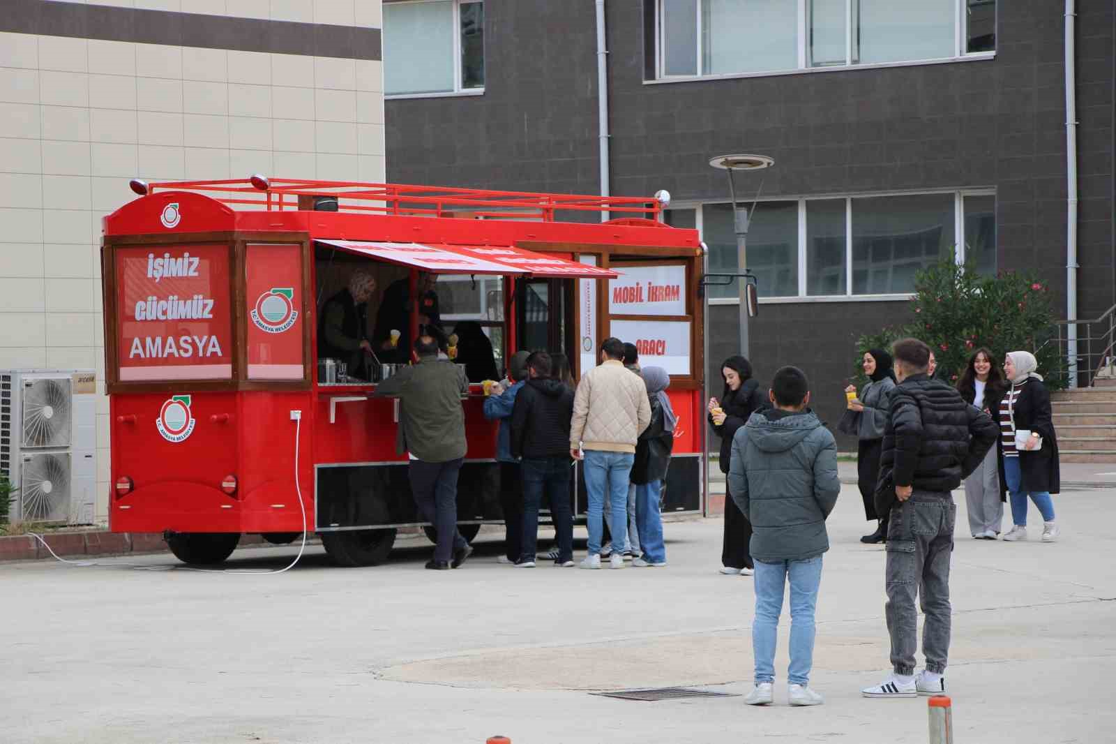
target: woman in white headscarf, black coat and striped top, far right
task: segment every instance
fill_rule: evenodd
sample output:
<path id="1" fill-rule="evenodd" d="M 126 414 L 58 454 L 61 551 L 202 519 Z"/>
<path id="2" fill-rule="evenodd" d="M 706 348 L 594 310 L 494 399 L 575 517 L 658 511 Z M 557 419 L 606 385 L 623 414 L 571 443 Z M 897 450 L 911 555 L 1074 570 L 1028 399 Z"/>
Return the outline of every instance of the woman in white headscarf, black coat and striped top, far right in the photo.
<path id="1" fill-rule="evenodd" d="M 1042 515 L 1042 542 L 1058 538 L 1050 494 L 1061 488 L 1058 439 L 1050 418 L 1050 393 L 1030 352 L 1008 352 L 1003 373 L 1011 388 L 1000 401 L 1000 488 L 1011 495 L 1011 530 L 1003 540 L 1027 540 L 1027 499 Z"/>

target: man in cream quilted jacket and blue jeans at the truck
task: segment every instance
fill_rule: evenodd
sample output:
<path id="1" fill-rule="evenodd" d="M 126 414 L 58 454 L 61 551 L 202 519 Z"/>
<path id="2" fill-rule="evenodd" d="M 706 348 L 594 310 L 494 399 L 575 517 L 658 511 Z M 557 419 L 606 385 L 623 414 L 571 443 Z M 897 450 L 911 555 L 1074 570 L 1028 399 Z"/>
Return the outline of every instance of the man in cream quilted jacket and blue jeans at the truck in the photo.
<path id="1" fill-rule="evenodd" d="M 647 387 L 625 369 L 623 360 L 624 342 L 605 338 L 600 365 L 581 375 L 574 397 L 569 454 L 581 459 L 580 451 L 585 452 L 585 488 L 589 496 L 589 555 L 581 561 L 583 569 L 600 567 L 605 498 L 613 545 L 624 545 L 627 538 L 628 476 L 636 441 L 651 423 Z M 613 551 L 612 566 L 624 567 L 620 551 Z"/>

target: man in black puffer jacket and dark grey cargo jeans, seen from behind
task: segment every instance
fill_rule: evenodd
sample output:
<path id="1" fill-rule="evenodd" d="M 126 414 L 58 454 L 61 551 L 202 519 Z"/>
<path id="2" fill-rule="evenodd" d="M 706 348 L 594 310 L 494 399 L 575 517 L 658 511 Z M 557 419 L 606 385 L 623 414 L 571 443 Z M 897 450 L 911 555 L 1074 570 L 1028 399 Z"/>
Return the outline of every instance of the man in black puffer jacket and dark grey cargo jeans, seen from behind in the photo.
<path id="1" fill-rule="evenodd" d="M 915 697 L 945 691 L 950 650 L 950 557 L 958 507 L 950 494 L 995 443 L 997 428 L 961 393 L 926 374 L 930 347 L 896 341 L 891 413 L 879 458 L 876 512 L 887 524 L 887 631 L 893 674 L 865 697 Z M 917 595 L 925 613 L 926 668 L 914 675 L 918 640 Z"/>

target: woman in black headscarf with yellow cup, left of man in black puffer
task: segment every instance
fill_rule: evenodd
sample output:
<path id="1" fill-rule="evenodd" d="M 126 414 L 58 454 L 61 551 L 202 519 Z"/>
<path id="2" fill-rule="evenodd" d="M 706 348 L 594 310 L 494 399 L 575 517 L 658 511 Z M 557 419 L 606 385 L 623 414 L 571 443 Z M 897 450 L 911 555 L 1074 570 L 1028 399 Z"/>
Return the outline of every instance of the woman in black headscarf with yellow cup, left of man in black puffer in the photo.
<path id="1" fill-rule="evenodd" d="M 837 429 L 856 435 L 856 485 L 864 502 L 864 518 L 876 522 L 876 531 L 860 537 L 860 542 L 875 544 L 887 540 L 887 515 L 876 514 L 875 493 L 895 373 L 892 371 L 892 355 L 883 349 L 866 351 L 860 366 L 868 375 L 868 384 L 864 385 L 859 395 L 856 395 L 855 385 L 845 388 L 847 403 Z"/>

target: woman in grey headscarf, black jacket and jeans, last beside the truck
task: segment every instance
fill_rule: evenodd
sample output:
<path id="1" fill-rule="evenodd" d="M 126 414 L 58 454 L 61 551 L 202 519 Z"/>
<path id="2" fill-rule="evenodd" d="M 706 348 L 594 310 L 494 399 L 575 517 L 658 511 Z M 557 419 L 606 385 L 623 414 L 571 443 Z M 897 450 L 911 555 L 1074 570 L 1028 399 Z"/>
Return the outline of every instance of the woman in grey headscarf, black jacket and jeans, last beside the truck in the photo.
<path id="1" fill-rule="evenodd" d="M 663 542 L 663 521 L 658 514 L 658 505 L 666 468 L 671 464 L 677 417 L 671 408 L 671 399 L 666 397 L 666 389 L 671 384 L 671 375 L 666 370 L 645 366 L 643 381 L 647 385 L 647 399 L 651 402 L 651 423 L 639 435 L 629 476 L 635 484 L 635 522 L 643 555 L 633 560 L 632 565 L 660 567 L 666 565 L 666 545 Z"/>

